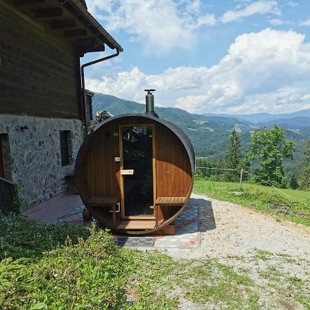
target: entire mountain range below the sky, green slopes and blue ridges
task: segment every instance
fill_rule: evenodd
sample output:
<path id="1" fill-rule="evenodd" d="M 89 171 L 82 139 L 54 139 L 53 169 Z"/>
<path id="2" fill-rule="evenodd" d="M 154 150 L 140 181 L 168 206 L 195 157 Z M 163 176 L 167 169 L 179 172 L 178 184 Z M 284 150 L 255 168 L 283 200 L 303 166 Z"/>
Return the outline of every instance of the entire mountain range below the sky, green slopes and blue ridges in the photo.
<path id="1" fill-rule="evenodd" d="M 109 111 L 113 115 L 145 113 L 145 105 L 95 93 L 93 112 Z M 310 109 L 291 114 L 191 114 L 174 107 L 155 107 L 159 117 L 178 125 L 191 139 L 196 156 L 223 160 L 232 129 L 240 133 L 242 147 L 247 150 L 251 132 L 259 127 L 278 125 L 285 128 L 285 136 L 296 142 L 296 157 L 310 138 Z M 289 117 L 289 115 L 291 117 Z M 302 115 L 302 116 L 301 116 Z M 251 120 L 251 121 L 249 121 Z"/>

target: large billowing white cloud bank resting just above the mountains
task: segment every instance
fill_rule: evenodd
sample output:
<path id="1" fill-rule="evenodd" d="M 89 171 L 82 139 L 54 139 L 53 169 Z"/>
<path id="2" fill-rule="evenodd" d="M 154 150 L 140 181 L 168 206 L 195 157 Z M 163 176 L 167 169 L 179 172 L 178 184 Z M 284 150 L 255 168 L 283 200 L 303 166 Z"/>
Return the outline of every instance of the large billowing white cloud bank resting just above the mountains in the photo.
<path id="1" fill-rule="evenodd" d="M 310 43 L 292 30 L 242 34 L 211 68 L 169 68 L 147 75 L 138 68 L 87 88 L 138 102 L 154 87 L 156 103 L 189 112 L 292 112 L 310 107 Z"/>

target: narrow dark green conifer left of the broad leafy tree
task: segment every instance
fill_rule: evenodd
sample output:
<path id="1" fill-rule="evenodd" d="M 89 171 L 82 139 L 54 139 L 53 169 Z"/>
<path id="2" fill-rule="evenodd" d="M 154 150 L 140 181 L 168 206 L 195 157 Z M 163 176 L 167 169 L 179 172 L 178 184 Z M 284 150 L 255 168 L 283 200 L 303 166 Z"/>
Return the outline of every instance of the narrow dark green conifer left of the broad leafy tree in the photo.
<path id="1" fill-rule="evenodd" d="M 227 171 L 225 178 L 229 182 L 236 182 L 240 178 L 240 169 L 243 167 L 244 160 L 240 136 L 235 129 L 231 131 L 227 151 L 225 154 L 225 167 L 227 169 L 236 169 L 237 171 Z"/>

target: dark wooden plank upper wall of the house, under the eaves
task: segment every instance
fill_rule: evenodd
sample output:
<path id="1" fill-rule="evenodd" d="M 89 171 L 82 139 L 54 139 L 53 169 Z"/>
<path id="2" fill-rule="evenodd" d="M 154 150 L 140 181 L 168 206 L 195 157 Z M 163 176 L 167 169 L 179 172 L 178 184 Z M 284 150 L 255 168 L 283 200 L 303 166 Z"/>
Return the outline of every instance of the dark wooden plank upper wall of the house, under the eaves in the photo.
<path id="1" fill-rule="evenodd" d="M 81 119 L 79 57 L 70 43 L 0 8 L 0 113 Z"/>

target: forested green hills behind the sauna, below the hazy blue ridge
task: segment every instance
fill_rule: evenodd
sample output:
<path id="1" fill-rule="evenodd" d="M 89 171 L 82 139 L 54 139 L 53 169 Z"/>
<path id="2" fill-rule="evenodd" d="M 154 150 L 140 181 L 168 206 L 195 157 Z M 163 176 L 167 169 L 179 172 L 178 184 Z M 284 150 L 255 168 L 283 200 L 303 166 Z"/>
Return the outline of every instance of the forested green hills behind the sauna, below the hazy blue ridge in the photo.
<path id="1" fill-rule="evenodd" d="M 115 96 L 96 93 L 93 98 L 93 111 L 96 113 L 97 111 L 103 110 L 107 110 L 113 115 L 145 113 L 145 105 L 119 99 Z M 155 110 L 159 117 L 171 121 L 182 128 L 191 139 L 196 156 L 211 156 L 214 159 L 224 158 L 227 141 L 233 128 L 240 133 L 243 147 L 247 149 L 251 132 L 260 127 L 260 124 L 256 125 L 238 117 L 190 114 L 185 110 L 174 107 L 156 107 Z M 296 123 L 298 123 L 298 120 L 296 120 Z M 272 123 L 270 127 L 273 125 Z M 269 123 L 265 123 L 264 126 L 269 127 Z M 307 138 L 310 138 L 310 126 L 305 126 L 302 130 L 298 130 L 298 128 L 296 129 L 292 125 L 283 125 L 282 127 L 287 128 L 287 138 L 296 141 L 298 152 L 300 152 L 304 142 Z"/>

